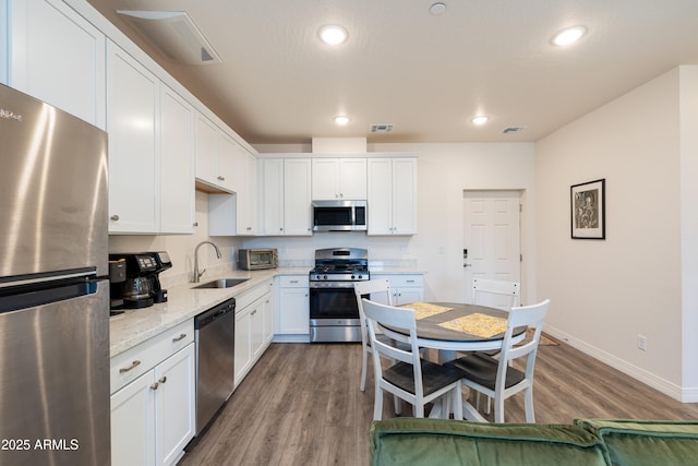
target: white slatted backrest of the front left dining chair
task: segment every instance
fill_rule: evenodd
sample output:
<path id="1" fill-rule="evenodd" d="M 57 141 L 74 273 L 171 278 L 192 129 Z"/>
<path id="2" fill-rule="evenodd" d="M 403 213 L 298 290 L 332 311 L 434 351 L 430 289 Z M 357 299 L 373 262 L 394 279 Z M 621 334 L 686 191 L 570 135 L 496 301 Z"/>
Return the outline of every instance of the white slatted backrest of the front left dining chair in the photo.
<path id="1" fill-rule="evenodd" d="M 419 347 L 417 346 L 417 321 L 414 320 L 414 311 L 408 308 L 381 304 L 380 302 L 370 301 L 365 298 L 363 298 L 362 301 L 368 321 L 369 337 L 373 346 L 373 367 L 375 368 L 376 377 L 381 374 L 381 355 L 383 355 L 388 359 L 414 366 L 414 386 L 416 390 L 421 390 L 422 371 Z M 388 326 L 409 332 L 409 337 L 399 337 L 399 340 L 409 344 L 409 349 L 405 346 L 398 348 L 392 345 L 389 340 L 377 339 L 376 326 Z"/>

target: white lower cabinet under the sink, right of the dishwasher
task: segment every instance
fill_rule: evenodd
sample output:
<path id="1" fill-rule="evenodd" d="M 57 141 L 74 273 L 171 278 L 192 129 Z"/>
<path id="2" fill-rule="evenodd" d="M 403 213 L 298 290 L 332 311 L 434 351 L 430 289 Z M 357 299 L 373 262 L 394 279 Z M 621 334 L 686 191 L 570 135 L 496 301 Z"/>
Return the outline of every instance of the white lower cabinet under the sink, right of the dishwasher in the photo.
<path id="1" fill-rule="evenodd" d="M 274 335 L 274 282 L 236 297 L 236 386 L 254 367 Z"/>

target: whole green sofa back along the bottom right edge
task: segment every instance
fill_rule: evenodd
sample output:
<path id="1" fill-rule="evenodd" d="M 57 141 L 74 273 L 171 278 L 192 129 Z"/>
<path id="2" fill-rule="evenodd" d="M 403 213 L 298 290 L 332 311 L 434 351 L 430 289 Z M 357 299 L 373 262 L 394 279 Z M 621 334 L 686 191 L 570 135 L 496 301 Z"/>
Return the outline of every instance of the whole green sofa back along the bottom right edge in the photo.
<path id="1" fill-rule="evenodd" d="M 535 425 L 398 418 L 373 422 L 371 464 L 696 466 L 698 421 Z"/>

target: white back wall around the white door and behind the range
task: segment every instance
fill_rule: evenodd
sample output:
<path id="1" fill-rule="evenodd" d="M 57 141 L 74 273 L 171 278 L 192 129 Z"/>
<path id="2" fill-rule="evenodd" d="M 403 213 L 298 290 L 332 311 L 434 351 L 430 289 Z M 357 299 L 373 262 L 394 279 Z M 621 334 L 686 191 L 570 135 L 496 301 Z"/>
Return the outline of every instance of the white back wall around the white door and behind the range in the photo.
<path id="1" fill-rule="evenodd" d="M 256 146 L 261 153 L 308 152 L 306 146 Z M 416 265 L 426 272 L 425 299 L 462 300 L 462 227 L 466 189 L 522 190 L 527 199 L 534 183 L 532 143 L 369 144 L 369 152 L 418 153 L 418 231 L 413 237 L 366 237 L 365 234 L 315 234 L 310 238 L 257 238 L 245 247 L 279 248 L 281 260 L 312 263 L 315 249 L 369 248 L 372 261 Z M 525 238 L 533 238 L 533 205 L 524 217 Z M 530 218 L 530 219 L 529 219 Z M 443 254 L 440 247 L 443 246 Z M 534 250 L 524 247 L 524 275 L 534 291 Z"/>

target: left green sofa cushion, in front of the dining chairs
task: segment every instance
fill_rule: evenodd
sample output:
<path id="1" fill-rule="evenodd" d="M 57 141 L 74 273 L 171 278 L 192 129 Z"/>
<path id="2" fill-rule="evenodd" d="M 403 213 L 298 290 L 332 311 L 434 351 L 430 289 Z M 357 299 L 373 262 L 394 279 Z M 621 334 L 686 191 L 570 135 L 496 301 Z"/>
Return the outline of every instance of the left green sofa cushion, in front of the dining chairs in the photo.
<path id="1" fill-rule="evenodd" d="M 399 418 L 374 421 L 371 464 L 607 465 L 601 441 L 576 426 Z"/>

